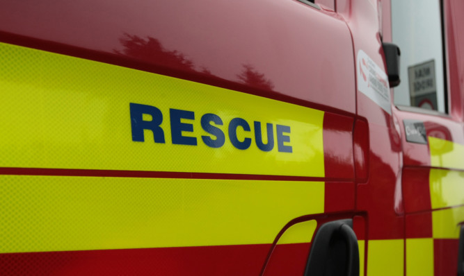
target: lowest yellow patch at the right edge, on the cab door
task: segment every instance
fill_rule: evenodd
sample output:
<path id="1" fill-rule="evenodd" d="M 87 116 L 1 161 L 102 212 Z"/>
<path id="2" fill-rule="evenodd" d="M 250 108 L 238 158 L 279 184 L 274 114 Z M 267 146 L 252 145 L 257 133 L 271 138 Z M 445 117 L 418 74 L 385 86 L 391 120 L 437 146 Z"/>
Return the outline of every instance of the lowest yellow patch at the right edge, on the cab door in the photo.
<path id="1" fill-rule="evenodd" d="M 433 238 L 458 239 L 460 230 L 458 224 L 462 222 L 464 222 L 464 207 L 433 211 Z"/>

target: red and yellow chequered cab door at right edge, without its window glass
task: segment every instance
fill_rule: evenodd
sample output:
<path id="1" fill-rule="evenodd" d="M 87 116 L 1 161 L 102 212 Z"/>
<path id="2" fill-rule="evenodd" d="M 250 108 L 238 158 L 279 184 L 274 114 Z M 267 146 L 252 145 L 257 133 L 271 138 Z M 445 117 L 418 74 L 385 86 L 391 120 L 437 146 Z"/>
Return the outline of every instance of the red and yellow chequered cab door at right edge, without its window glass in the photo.
<path id="1" fill-rule="evenodd" d="M 456 32 L 462 20 L 460 15 L 456 16 L 459 6 L 461 1 L 443 3 L 449 114 L 394 108 L 403 148 L 401 189 L 406 213 L 406 275 L 456 275 L 458 225 L 464 221 L 463 90 L 459 77 L 463 64 L 459 54 L 462 37 Z M 405 121 L 415 121 L 424 127 L 421 130 L 424 143 L 406 139 L 414 129 Z"/>

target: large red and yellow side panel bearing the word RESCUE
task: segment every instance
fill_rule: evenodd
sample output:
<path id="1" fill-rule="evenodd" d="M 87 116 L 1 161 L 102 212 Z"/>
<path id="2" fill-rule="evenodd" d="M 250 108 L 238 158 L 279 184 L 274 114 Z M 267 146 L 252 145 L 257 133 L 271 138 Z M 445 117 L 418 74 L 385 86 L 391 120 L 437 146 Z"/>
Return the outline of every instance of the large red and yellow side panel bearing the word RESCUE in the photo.
<path id="1" fill-rule="evenodd" d="M 2 275 L 272 275 L 289 255 L 298 274 L 312 232 L 294 220 L 354 214 L 333 10 L 15 1 L 0 42 Z"/>

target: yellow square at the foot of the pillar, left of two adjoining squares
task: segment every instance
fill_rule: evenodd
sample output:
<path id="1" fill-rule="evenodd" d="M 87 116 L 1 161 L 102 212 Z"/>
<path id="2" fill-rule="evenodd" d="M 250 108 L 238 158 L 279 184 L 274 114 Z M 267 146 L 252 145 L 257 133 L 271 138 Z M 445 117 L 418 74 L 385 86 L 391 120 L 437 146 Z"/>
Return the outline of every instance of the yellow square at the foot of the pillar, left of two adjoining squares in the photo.
<path id="1" fill-rule="evenodd" d="M 367 275 L 403 275 L 404 241 L 370 240 L 367 248 Z"/>

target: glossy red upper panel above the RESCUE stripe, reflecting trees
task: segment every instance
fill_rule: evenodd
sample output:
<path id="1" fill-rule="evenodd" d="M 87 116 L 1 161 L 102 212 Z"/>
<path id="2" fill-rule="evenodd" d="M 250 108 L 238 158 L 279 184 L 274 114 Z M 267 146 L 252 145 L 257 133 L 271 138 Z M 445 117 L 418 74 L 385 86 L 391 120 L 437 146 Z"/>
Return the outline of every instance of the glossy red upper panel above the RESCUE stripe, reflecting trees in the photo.
<path id="1" fill-rule="evenodd" d="M 134 54 L 135 46 L 124 46 L 128 35 L 145 43 L 151 37 L 164 53 L 177 51 L 192 66 L 148 52 Z M 294 0 L 14 1 L 0 10 L 0 36 L 47 51 L 355 112 L 346 24 L 335 12 L 322 13 Z M 238 76 L 244 65 L 271 85 L 243 85 Z"/>

